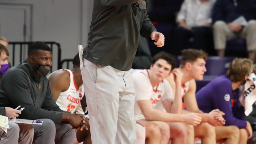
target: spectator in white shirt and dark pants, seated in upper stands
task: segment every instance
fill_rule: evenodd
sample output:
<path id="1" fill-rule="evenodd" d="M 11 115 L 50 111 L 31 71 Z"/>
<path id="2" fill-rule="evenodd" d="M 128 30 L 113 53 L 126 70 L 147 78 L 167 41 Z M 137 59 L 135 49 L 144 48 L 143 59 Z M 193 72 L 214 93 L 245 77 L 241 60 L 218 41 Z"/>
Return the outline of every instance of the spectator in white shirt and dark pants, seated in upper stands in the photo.
<path id="1" fill-rule="evenodd" d="M 211 27 L 211 10 L 216 0 L 185 0 L 177 15 L 178 27 L 173 30 L 172 43 L 181 54 L 187 48 L 187 42 L 193 38 L 189 48 L 202 49 L 212 53 L 213 37 Z"/>

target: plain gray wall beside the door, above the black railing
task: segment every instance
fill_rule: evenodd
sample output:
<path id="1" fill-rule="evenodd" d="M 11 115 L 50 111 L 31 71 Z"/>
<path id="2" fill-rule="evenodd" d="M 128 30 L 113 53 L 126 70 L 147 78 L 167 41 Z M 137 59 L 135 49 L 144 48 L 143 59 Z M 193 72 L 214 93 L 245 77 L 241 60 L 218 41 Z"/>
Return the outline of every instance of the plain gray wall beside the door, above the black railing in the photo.
<path id="1" fill-rule="evenodd" d="M 93 0 L 0 0 L 3 4 L 31 5 L 31 41 L 59 42 L 61 59 L 72 59 L 78 53 L 77 45 L 87 43 Z"/>

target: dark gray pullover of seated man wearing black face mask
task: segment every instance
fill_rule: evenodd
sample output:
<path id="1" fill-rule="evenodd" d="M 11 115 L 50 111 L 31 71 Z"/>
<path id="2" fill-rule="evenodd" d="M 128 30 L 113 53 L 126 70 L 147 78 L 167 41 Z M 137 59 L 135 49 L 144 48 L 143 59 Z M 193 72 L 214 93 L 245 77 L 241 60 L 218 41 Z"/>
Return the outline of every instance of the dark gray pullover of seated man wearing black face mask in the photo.
<path id="1" fill-rule="evenodd" d="M 27 60 L 10 68 L 0 83 L 0 107 L 25 107 L 19 118 L 48 118 L 60 124 L 62 111 L 53 99 L 46 77 L 35 77 Z"/>

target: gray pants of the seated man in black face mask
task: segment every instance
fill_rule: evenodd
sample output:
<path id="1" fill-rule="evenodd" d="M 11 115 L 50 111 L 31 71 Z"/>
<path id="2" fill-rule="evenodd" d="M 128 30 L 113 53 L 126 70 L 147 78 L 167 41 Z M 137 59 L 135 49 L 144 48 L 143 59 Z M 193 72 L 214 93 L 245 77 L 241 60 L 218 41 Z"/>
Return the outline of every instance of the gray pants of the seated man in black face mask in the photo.
<path id="1" fill-rule="evenodd" d="M 76 136 L 70 124 L 55 124 L 50 119 L 40 119 L 42 125 L 33 125 L 36 144 L 73 144 Z"/>

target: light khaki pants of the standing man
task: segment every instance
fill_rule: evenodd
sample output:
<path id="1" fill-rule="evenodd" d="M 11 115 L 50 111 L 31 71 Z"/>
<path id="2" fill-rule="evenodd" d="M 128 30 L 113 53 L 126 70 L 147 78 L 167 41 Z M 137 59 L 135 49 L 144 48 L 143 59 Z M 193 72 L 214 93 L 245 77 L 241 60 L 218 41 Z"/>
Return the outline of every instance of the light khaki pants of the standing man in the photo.
<path id="1" fill-rule="evenodd" d="M 131 70 L 83 59 L 80 66 L 93 144 L 135 144 L 135 89 Z"/>

